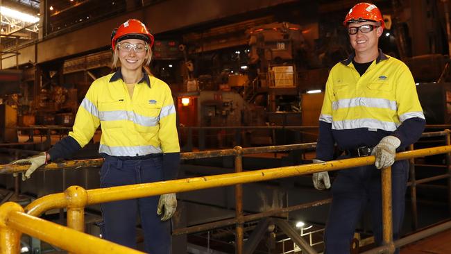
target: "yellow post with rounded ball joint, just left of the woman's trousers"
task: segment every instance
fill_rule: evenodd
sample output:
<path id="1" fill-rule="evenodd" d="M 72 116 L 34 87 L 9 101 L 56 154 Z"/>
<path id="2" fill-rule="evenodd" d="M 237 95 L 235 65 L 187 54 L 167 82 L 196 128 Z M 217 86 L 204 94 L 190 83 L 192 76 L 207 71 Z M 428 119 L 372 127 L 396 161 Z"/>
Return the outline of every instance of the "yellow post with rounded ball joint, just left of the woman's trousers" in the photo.
<path id="1" fill-rule="evenodd" d="M 85 232 L 86 190 L 80 186 L 71 186 L 66 189 L 65 196 L 67 200 L 67 226 Z"/>

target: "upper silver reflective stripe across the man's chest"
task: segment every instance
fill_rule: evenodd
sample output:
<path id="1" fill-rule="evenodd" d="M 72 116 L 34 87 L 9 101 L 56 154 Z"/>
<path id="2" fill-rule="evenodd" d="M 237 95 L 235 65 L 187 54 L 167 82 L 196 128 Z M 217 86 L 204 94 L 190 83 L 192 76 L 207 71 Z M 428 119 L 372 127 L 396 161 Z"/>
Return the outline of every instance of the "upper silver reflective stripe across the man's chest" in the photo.
<path id="1" fill-rule="evenodd" d="M 332 102 L 333 110 L 338 110 L 340 108 L 353 108 L 359 106 L 368 108 L 388 108 L 390 110 L 398 110 L 398 107 L 396 106 L 396 101 L 390 101 L 388 99 L 357 97 L 351 99 L 341 99 L 339 101 Z"/>

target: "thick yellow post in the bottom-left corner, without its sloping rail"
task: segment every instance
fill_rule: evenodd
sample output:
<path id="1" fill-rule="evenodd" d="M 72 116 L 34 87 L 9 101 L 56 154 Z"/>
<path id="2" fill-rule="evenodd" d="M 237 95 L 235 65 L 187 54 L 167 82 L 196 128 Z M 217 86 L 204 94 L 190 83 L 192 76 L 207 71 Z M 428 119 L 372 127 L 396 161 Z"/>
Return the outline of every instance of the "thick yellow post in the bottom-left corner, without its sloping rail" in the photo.
<path id="1" fill-rule="evenodd" d="M 0 206 L 0 253 L 20 253 L 20 237 L 22 232 L 6 225 L 10 212 L 23 212 L 24 208 L 17 203 L 6 202 Z"/>

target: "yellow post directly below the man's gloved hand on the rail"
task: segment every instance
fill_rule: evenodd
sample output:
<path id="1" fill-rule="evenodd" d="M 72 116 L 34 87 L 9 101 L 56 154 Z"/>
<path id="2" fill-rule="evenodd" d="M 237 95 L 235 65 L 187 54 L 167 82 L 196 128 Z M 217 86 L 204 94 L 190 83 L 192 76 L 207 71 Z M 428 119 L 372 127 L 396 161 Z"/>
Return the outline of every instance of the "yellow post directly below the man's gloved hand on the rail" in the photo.
<path id="1" fill-rule="evenodd" d="M 389 247 L 389 253 L 395 252 L 393 244 L 393 217 L 391 205 L 391 167 L 382 169 L 382 239 Z"/>

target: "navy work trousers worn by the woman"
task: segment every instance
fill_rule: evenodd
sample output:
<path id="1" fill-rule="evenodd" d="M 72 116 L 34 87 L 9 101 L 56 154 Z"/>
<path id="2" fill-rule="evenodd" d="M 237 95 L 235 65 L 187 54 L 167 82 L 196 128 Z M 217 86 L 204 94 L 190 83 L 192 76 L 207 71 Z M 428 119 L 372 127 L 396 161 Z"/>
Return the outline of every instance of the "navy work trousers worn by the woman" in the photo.
<path id="1" fill-rule="evenodd" d="M 105 156 L 101 169 L 101 187 L 152 183 L 163 179 L 162 156 L 146 160 L 119 160 Z M 160 196 L 114 201 L 101 204 L 103 238 L 136 248 L 137 216 L 144 231 L 145 251 L 152 254 L 171 253 L 171 223 L 157 215 Z"/>

